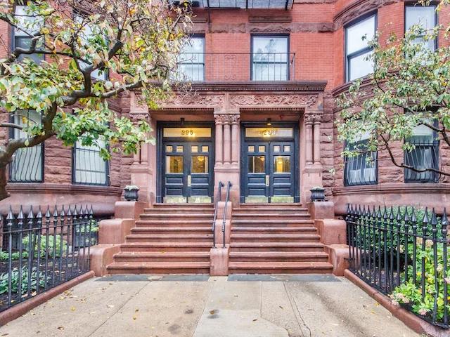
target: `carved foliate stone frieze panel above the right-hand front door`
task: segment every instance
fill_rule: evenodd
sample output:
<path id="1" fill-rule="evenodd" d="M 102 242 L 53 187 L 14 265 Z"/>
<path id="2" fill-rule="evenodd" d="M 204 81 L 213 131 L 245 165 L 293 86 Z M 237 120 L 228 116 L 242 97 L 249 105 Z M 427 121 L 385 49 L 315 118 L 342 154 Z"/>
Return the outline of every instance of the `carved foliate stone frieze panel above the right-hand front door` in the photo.
<path id="1" fill-rule="evenodd" d="M 319 95 L 233 95 L 230 97 L 230 105 L 238 106 L 307 106 L 317 103 Z"/>

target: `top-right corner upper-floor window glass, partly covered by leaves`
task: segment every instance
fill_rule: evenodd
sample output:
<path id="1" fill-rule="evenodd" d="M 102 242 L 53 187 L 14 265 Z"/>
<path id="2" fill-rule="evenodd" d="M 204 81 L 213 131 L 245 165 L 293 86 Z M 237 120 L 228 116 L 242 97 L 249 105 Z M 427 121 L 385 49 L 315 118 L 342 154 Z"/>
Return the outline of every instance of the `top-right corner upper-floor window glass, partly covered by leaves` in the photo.
<path id="1" fill-rule="evenodd" d="M 430 31 L 437 25 L 436 6 L 405 6 L 405 31 L 413 25 L 420 25 L 426 31 Z M 425 41 L 418 37 L 416 43 L 423 43 L 430 51 L 436 49 L 436 40 Z"/>

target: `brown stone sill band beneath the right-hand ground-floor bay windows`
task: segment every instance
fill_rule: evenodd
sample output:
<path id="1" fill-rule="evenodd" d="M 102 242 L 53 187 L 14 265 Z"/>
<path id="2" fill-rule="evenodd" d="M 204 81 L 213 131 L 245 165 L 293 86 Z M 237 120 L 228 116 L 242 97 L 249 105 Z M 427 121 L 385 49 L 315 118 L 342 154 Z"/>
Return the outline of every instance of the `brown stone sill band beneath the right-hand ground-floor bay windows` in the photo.
<path id="1" fill-rule="evenodd" d="M 405 183 L 387 183 L 380 185 L 361 185 L 334 187 L 333 195 L 352 195 L 352 194 L 387 194 L 387 193 L 450 193 L 450 185 L 446 184 L 405 184 Z"/>

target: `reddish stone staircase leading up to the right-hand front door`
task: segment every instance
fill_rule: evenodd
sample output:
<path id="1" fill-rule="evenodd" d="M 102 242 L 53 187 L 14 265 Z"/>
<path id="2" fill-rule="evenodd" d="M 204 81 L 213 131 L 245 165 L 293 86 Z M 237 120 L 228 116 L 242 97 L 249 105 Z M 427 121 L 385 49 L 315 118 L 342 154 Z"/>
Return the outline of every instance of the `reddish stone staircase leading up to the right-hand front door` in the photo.
<path id="1" fill-rule="evenodd" d="M 241 204 L 233 208 L 229 272 L 333 272 L 308 209 L 298 204 Z"/>

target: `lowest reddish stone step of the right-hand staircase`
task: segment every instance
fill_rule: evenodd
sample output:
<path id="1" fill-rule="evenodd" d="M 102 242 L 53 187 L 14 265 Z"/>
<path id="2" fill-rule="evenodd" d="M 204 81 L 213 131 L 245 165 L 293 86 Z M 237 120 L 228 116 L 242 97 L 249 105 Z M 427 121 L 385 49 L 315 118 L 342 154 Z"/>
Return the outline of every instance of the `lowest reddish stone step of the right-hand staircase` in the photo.
<path id="1" fill-rule="evenodd" d="M 328 274 L 333 265 L 328 262 L 230 262 L 233 274 Z"/>

